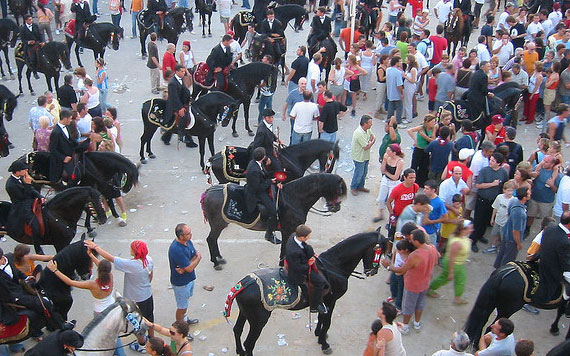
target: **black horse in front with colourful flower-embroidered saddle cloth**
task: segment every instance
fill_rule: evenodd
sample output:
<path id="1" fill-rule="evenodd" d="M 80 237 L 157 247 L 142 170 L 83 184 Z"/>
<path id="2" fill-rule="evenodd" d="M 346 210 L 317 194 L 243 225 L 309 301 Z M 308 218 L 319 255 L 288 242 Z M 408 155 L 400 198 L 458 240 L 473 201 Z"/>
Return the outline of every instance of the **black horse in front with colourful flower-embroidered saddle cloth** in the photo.
<path id="1" fill-rule="evenodd" d="M 315 336 L 318 337 L 318 343 L 321 345 L 323 353 L 332 353 L 332 348 L 327 342 L 327 332 L 331 325 L 336 301 L 348 290 L 348 278 L 352 274 L 361 274 L 355 272 L 360 261 L 362 261 L 365 276 L 375 275 L 378 272 L 380 256 L 386 252 L 387 242 L 388 239 L 378 232 L 356 234 L 342 240 L 321 253 L 317 258 L 318 269 L 327 279 L 330 288 L 328 293 L 323 296 L 323 302 L 328 307 L 329 312 L 328 314 L 319 314 L 318 324 L 315 328 Z M 277 281 L 285 281 L 286 285 L 282 286 L 285 290 L 294 288 L 288 283 L 281 269 L 265 268 L 255 271 L 253 274 L 263 281 L 271 278 Z M 235 291 L 232 289 L 227 297 L 224 315 L 226 318 L 229 316 L 232 302 L 235 299 L 239 305 L 239 314 L 233 329 L 236 352 L 241 356 L 253 356 L 255 343 L 269 320 L 273 307 L 266 308 L 264 306 L 262 299 L 265 296 L 260 292 L 256 279 L 252 278 L 251 274 L 238 282 L 237 285 L 239 285 L 239 289 L 234 287 Z M 300 292 L 297 291 L 297 293 Z M 277 307 L 289 310 L 305 309 L 309 306 L 308 299 L 305 288 L 302 288 L 302 296 L 298 303 Z M 249 323 L 249 333 L 242 346 L 241 334 L 246 321 Z"/>

